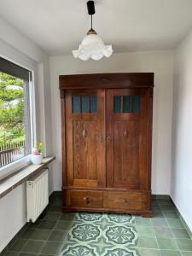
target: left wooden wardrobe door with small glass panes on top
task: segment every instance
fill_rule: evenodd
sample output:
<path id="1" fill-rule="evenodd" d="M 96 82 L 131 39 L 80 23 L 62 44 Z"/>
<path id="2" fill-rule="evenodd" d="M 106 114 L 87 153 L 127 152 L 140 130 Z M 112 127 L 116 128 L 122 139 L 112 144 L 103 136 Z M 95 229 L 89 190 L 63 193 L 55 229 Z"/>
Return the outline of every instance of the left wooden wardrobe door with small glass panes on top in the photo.
<path id="1" fill-rule="evenodd" d="M 67 90 L 67 186 L 106 186 L 104 90 Z"/>

